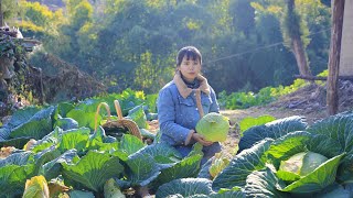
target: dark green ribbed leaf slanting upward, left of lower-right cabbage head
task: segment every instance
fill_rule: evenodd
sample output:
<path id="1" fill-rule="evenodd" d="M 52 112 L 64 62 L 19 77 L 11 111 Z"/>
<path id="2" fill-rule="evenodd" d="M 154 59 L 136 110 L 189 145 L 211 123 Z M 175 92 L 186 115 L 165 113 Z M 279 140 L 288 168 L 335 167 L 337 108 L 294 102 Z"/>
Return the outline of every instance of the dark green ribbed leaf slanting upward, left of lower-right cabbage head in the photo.
<path id="1" fill-rule="evenodd" d="M 272 139 L 265 139 L 252 148 L 244 150 L 234 156 L 231 164 L 213 180 L 213 188 L 233 188 L 234 186 L 245 186 L 246 177 L 254 170 L 265 167 L 267 161 L 265 152 L 274 142 Z"/>

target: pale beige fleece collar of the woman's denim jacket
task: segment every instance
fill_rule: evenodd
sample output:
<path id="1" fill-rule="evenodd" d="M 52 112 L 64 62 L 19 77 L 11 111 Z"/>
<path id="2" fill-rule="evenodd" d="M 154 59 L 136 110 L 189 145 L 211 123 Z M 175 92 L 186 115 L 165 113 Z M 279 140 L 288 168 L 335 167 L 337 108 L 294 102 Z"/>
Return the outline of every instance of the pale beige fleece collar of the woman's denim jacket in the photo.
<path id="1" fill-rule="evenodd" d="M 210 95 L 211 91 L 210 91 L 207 79 L 200 74 L 197 75 L 196 79 L 200 81 L 200 87 L 197 89 L 206 95 Z M 197 89 L 191 89 L 186 86 L 184 80 L 181 78 L 180 72 L 176 72 L 176 74 L 174 75 L 173 81 L 176 85 L 176 88 L 183 98 L 186 98 L 193 90 L 197 90 Z"/>

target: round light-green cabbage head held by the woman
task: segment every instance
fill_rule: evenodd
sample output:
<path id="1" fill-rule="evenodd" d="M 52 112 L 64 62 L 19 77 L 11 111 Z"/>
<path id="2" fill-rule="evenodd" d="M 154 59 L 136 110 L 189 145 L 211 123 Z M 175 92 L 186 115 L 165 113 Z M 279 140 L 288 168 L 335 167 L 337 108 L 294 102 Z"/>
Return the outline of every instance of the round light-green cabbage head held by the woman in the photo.
<path id="1" fill-rule="evenodd" d="M 228 130 L 228 118 L 216 112 L 204 116 L 196 124 L 196 132 L 211 142 L 224 142 L 227 139 Z"/>

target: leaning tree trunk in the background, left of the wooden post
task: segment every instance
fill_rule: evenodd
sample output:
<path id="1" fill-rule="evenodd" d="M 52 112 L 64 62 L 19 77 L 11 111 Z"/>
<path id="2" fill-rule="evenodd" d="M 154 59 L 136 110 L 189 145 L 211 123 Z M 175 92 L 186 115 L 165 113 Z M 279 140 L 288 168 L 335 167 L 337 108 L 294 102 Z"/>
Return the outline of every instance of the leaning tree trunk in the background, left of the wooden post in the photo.
<path id="1" fill-rule="evenodd" d="M 290 16 L 296 16 L 297 14 L 295 13 L 295 0 L 288 0 L 287 1 L 287 7 L 288 7 L 288 15 Z M 298 16 L 299 18 L 299 16 Z M 291 20 L 295 23 L 300 23 L 299 20 Z M 290 25 L 290 24 L 288 24 Z M 295 26 L 298 26 L 298 29 L 300 28 L 300 24 L 292 24 Z M 309 64 L 308 64 L 308 57 L 307 57 L 307 53 L 306 50 L 303 47 L 303 43 L 301 40 L 301 33 L 300 30 L 295 30 L 295 32 L 289 34 L 290 40 L 291 40 L 291 47 L 292 47 L 292 52 L 296 56 L 296 61 L 297 61 L 297 65 L 299 68 L 299 73 L 302 76 L 311 76 L 311 72 L 309 68 Z"/>

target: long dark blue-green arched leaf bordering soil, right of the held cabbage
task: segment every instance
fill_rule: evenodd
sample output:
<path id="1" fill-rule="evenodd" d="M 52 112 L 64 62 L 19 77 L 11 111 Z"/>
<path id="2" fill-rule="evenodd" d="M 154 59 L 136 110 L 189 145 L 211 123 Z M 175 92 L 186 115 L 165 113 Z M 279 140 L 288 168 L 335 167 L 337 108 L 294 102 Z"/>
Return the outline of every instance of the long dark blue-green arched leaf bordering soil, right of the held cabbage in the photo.
<path id="1" fill-rule="evenodd" d="M 278 139 L 293 131 L 303 131 L 307 123 L 302 117 L 288 117 L 268 122 L 264 125 L 253 127 L 244 132 L 239 142 L 239 151 L 252 147 L 256 142 L 266 138 Z"/>

